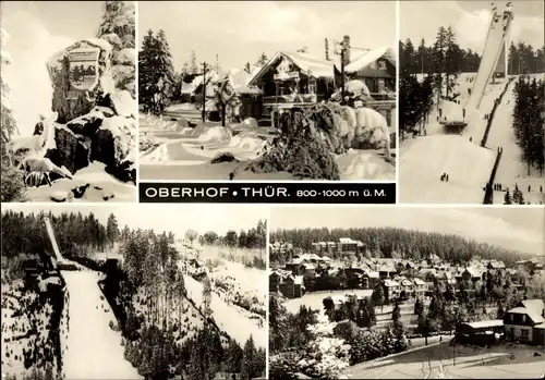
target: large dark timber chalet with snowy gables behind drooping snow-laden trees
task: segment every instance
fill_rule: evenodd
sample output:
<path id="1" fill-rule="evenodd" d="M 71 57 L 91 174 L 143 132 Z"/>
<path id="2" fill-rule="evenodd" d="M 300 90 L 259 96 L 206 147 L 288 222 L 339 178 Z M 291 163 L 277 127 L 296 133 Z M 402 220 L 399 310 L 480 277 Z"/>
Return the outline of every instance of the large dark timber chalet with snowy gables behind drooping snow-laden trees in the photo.
<path id="1" fill-rule="evenodd" d="M 344 36 L 347 46 L 350 37 Z M 278 51 L 247 82 L 262 94 L 262 114 L 252 115 L 262 124 L 271 123 L 277 115 L 293 107 L 311 107 L 328 100 L 341 86 L 341 64 L 346 83 L 360 81 L 370 95 L 366 107 L 380 112 L 393 126 L 396 120 L 396 54 L 390 48 L 349 48 L 344 61 L 340 57 L 319 58 L 303 52 Z"/>

